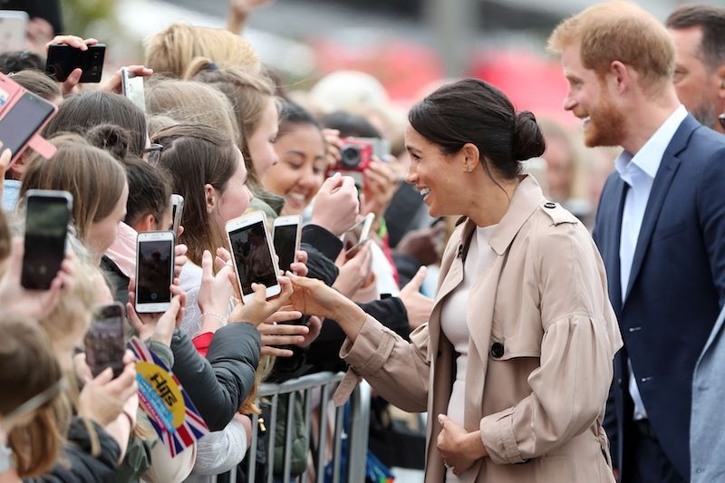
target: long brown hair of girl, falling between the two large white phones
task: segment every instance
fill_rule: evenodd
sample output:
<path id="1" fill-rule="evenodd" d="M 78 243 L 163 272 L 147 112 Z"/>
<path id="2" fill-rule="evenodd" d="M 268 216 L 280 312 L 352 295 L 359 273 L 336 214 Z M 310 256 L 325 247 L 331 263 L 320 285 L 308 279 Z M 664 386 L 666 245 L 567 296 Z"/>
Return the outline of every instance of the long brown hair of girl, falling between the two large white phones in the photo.
<path id="1" fill-rule="evenodd" d="M 201 266 L 204 250 L 216 253 L 225 246 L 224 227 L 217 227 L 208 216 L 204 185 L 221 192 L 227 189 L 238 167 L 235 145 L 220 130 L 193 124 L 160 130 L 153 142 L 164 147 L 159 164 L 171 176 L 172 191 L 184 197 L 181 225 L 186 229 L 179 241 L 189 247 L 189 260 Z"/>

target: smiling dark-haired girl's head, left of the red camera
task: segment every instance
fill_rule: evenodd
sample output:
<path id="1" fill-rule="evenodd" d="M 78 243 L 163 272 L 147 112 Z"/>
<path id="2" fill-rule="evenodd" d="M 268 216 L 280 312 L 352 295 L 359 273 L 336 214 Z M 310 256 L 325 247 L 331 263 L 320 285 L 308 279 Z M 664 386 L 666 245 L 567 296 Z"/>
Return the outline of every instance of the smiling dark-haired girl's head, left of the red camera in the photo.
<path id="1" fill-rule="evenodd" d="M 283 215 L 298 215 L 324 182 L 324 138 L 312 114 L 294 102 L 285 102 L 280 117 L 275 141 L 279 162 L 267 169 L 262 184 L 285 198 Z"/>

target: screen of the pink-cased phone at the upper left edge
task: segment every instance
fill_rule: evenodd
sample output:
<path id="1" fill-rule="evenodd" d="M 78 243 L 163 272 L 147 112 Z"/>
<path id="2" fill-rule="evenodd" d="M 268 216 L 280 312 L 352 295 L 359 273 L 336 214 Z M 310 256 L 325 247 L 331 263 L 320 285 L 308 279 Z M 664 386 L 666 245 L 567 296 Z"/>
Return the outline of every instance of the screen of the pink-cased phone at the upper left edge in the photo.
<path id="1" fill-rule="evenodd" d="M 53 104 L 43 101 L 30 92 L 25 92 L 0 121 L 0 140 L 3 141 L 3 148 L 9 149 L 13 155 L 18 154 L 52 113 Z"/>

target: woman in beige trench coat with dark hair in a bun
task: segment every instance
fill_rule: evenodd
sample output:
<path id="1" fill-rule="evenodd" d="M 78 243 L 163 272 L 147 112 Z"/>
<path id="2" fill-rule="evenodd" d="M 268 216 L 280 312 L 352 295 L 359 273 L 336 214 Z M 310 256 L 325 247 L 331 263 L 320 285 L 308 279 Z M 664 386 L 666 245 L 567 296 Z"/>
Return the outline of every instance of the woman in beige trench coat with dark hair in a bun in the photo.
<path id="1" fill-rule="evenodd" d="M 602 419 L 621 337 L 589 233 L 520 175 L 544 150 L 533 114 L 464 80 L 409 121 L 406 180 L 431 216 L 463 216 L 429 324 L 408 343 L 301 277 L 295 307 L 341 325 L 341 356 L 382 397 L 429 412 L 426 481 L 614 481 Z"/>

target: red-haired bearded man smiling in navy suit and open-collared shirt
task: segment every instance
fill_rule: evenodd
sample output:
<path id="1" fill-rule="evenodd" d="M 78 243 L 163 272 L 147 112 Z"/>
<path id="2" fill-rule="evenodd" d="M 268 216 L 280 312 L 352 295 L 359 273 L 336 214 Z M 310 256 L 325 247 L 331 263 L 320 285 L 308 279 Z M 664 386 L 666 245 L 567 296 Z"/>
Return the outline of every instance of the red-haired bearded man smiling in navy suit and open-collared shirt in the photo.
<path id="1" fill-rule="evenodd" d="M 621 146 L 594 239 L 624 347 L 605 420 L 623 482 L 690 479 L 692 372 L 725 302 L 725 137 L 678 101 L 666 29 L 594 5 L 549 38 L 587 146 Z"/>

